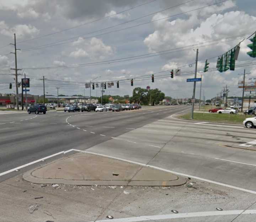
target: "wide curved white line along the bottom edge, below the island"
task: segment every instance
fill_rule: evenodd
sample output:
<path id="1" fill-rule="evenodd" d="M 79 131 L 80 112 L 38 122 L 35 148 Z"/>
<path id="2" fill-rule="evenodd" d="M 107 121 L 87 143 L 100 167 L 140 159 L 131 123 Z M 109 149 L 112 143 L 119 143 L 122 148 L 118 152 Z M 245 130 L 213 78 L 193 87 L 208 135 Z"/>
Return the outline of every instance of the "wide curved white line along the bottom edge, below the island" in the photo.
<path id="1" fill-rule="evenodd" d="M 113 219 L 112 222 L 137 222 L 137 221 L 156 221 L 174 218 L 189 218 L 189 217 L 206 217 L 206 216 L 224 216 L 224 215 L 240 215 L 240 214 L 256 214 L 256 210 L 224 210 L 224 211 L 204 211 L 191 212 L 181 214 L 165 214 L 165 215 L 151 215 L 138 216 Z M 109 222 L 110 220 L 99 220 L 97 222 Z M 90 221 L 93 222 L 93 221 Z"/>

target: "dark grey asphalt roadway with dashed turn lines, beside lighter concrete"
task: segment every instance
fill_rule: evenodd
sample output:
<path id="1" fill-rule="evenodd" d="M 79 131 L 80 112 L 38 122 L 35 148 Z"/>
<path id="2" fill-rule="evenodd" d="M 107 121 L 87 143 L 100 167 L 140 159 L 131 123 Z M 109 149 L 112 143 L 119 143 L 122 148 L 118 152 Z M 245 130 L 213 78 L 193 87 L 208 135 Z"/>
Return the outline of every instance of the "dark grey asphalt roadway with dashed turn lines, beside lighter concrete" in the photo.
<path id="1" fill-rule="evenodd" d="M 88 149 L 187 106 L 123 112 L 0 115 L 0 173 L 60 151 Z M 25 167 L 24 171 L 33 167 Z M 21 171 L 22 172 L 22 171 Z M 0 177 L 4 181 L 20 172 Z"/>

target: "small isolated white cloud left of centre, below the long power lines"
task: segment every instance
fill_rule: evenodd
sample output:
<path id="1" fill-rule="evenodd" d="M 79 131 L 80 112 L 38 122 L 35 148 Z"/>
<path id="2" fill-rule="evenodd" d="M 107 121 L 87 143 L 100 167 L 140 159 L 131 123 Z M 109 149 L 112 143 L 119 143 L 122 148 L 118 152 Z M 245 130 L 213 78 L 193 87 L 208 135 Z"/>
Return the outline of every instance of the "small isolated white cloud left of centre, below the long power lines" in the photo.
<path id="1" fill-rule="evenodd" d="M 70 57 L 89 57 L 91 59 L 102 60 L 114 54 L 114 49 L 111 46 L 105 45 L 101 39 L 91 38 L 91 40 L 79 37 L 73 42 L 76 46 L 75 51 L 70 52 Z"/>

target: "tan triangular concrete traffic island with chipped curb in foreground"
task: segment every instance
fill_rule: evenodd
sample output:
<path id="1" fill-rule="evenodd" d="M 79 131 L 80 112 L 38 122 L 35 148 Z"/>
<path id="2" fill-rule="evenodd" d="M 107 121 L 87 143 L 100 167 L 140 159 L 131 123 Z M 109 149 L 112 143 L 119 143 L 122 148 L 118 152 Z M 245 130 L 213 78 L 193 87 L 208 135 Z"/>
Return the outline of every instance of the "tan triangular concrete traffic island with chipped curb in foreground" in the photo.
<path id="1" fill-rule="evenodd" d="M 66 185 L 180 186 L 186 179 L 172 173 L 105 156 L 78 153 L 23 174 L 28 182 Z"/>

